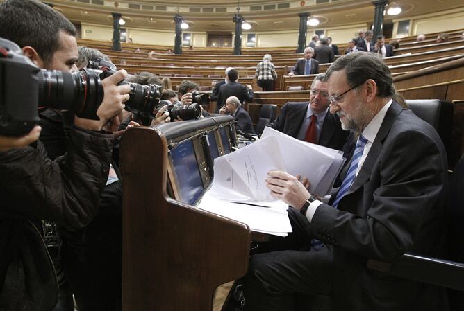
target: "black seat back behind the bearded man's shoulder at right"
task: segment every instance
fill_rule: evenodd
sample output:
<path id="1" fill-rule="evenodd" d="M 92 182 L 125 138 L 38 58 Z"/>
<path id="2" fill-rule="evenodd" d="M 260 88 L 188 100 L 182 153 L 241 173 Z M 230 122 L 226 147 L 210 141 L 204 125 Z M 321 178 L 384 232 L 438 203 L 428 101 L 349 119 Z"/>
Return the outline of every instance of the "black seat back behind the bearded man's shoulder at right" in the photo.
<path id="1" fill-rule="evenodd" d="M 453 127 L 453 104 L 438 99 L 406 100 L 406 104 L 416 116 L 435 127 L 449 154 Z"/>

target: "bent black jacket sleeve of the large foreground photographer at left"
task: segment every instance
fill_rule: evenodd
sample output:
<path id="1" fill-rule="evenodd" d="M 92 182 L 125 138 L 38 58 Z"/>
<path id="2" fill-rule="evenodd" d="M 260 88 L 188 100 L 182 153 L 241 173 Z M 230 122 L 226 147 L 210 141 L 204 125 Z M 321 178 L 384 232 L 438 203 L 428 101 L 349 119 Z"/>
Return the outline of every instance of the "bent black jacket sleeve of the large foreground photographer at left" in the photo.
<path id="1" fill-rule="evenodd" d="M 113 135 L 73 127 L 67 153 L 51 161 L 26 147 L 0 153 L 0 194 L 7 213 L 76 228 L 98 211 L 110 168 Z"/>

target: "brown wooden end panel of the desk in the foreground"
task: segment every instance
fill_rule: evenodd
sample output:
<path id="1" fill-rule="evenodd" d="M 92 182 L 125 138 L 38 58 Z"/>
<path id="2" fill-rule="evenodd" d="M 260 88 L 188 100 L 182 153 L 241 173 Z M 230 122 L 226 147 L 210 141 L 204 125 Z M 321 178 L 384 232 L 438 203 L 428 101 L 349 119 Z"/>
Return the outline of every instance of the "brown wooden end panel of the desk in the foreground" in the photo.
<path id="1" fill-rule="evenodd" d="M 157 130 L 127 130 L 121 162 L 123 310 L 211 310 L 215 288 L 247 272 L 249 228 L 168 197 Z"/>

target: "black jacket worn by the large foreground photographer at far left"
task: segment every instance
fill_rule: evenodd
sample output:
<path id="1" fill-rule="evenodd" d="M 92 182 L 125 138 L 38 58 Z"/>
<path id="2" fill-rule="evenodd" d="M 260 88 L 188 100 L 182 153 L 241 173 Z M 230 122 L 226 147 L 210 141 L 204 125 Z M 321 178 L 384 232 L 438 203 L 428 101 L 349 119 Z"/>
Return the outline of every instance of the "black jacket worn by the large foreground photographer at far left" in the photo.
<path id="1" fill-rule="evenodd" d="M 72 127 L 67 154 L 56 161 L 47 159 L 40 142 L 0 152 L 0 310 L 55 306 L 58 284 L 40 220 L 69 228 L 92 220 L 108 176 L 112 139 Z"/>

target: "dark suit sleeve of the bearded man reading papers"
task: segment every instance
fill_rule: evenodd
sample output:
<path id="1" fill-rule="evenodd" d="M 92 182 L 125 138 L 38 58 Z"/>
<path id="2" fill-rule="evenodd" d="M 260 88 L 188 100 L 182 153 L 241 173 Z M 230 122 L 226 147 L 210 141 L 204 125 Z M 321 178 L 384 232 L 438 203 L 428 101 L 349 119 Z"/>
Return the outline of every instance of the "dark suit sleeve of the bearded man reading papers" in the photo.
<path id="1" fill-rule="evenodd" d="M 367 181 L 360 189 L 372 195 L 367 217 L 322 204 L 311 221 L 311 233 L 367 258 L 395 260 L 413 246 L 423 226 L 445 213 L 438 204 L 446 184 L 444 161 L 438 144 L 428 135 L 417 131 L 397 134 L 376 160 L 379 176 L 374 177 L 380 185 Z M 356 206 L 344 209 L 348 208 Z M 331 238 L 326 238 L 328 233 Z"/>

